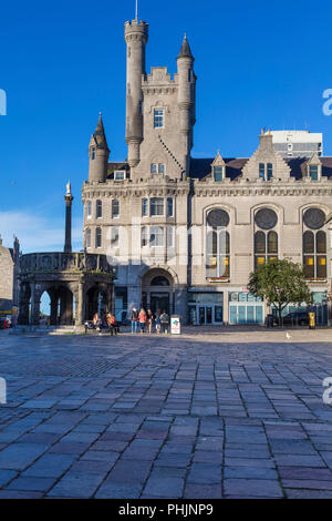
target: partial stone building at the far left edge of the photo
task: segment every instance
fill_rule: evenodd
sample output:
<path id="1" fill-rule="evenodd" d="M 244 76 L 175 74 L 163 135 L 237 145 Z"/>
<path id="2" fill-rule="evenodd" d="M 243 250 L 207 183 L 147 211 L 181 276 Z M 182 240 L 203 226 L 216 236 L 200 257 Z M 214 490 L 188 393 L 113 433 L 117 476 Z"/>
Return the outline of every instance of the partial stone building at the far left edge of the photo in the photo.
<path id="1" fill-rule="evenodd" d="M 19 304 L 20 243 L 15 238 L 12 248 L 2 245 L 0 238 L 0 310 L 11 311 Z"/>

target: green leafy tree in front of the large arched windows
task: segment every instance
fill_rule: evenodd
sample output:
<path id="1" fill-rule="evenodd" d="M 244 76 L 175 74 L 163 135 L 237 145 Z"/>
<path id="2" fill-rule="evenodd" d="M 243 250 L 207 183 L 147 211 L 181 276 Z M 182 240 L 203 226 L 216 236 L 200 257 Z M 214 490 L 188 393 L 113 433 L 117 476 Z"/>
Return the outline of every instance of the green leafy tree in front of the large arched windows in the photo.
<path id="1" fill-rule="evenodd" d="M 303 268 L 290 260 L 273 259 L 250 274 L 248 288 L 256 297 L 264 298 L 278 309 L 279 325 L 282 310 L 289 304 L 311 303 L 311 293 Z"/>

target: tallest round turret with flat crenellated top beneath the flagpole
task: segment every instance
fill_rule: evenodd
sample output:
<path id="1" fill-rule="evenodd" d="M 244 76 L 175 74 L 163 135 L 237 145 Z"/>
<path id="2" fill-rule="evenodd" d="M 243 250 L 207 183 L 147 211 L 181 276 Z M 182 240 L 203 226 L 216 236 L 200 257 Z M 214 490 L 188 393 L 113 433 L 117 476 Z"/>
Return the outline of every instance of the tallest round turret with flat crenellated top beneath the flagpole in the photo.
<path id="1" fill-rule="evenodd" d="M 139 145 L 143 141 L 143 93 L 142 74 L 145 74 L 145 45 L 148 39 L 148 24 L 132 20 L 125 23 L 127 44 L 127 89 L 126 89 L 126 142 L 128 163 L 139 163 Z"/>

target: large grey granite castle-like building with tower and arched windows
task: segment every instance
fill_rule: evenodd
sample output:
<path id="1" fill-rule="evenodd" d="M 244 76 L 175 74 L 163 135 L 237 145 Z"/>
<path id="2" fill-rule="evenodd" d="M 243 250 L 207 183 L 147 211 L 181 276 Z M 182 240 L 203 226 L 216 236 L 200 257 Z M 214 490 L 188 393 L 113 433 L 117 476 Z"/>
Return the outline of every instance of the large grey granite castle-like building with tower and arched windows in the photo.
<path id="1" fill-rule="evenodd" d="M 147 37 L 145 22 L 125 24 L 128 159 L 105 160 L 101 116 L 82 191 L 85 251 L 118 260 L 117 316 L 144 305 L 194 324 L 262 324 L 267 306 L 247 284 L 272 257 L 304 263 L 322 303 L 332 157 L 282 159 L 263 131 L 251 157 L 191 157 L 197 79 L 188 40 L 172 78 L 160 67 L 146 74 Z"/>

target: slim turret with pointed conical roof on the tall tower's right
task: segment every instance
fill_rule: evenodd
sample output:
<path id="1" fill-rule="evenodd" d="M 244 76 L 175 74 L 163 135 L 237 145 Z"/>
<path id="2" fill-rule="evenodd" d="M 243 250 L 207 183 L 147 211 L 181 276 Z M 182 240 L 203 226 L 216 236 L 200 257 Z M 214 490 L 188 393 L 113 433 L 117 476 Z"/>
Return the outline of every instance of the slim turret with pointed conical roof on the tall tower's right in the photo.
<path id="1" fill-rule="evenodd" d="M 193 126 L 195 125 L 195 96 L 196 96 L 196 76 L 194 73 L 195 58 L 190 51 L 190 47 L 185 35 L 180 52 L 177 57 L 178 73 L 178 99 L 180 132 L 189 134 L 188 152 L 193 147 Z"/>

